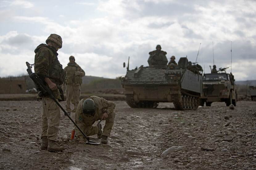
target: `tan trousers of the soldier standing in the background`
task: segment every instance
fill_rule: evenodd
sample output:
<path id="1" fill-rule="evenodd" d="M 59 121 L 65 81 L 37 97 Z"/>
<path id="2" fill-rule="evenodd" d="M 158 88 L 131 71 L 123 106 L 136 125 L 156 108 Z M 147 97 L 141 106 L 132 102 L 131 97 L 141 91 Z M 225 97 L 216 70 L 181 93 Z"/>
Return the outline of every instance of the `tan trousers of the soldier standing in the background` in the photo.
<path id="1" fill-rule="evenodd" d="M 67 102 L 66 102 L 66 110 L 67 112 L 71 111 L 70 101 L 71 98 L 74 100 L 74 109 L 77 108 L 77 105 L 80 101 L 80 85 L 67 85 L 66 94 L 67 94 Z"/>

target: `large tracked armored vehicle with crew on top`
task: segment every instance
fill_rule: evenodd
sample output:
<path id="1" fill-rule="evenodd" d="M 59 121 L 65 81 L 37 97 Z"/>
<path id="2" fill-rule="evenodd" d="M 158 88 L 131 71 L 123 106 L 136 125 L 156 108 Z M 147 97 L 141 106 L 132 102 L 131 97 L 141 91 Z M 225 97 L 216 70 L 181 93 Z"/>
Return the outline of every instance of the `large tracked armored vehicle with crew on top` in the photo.
<path id="1" fill-rule="evenodd" d="M 202 93 L 202 68 L 181 57 L 178 65 L 167 65 L 164 54 L 150 55 L 149 66 L 129 70 L 121 77 L 126 102 L 132 108 L 155 108 L 172 102 L 175 109 L 197 109 Z M 125 67 L 125 63 L 124 63 Z"/>

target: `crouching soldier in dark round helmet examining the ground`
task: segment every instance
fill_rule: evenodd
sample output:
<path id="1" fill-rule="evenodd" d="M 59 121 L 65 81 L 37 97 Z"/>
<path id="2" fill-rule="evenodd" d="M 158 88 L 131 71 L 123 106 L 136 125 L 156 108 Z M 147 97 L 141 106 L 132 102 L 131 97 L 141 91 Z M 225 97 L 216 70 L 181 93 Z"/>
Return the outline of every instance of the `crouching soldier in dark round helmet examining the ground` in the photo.
<path id="1" fill-rule="evenodd" d="M 97 96 L 89 96 L 82 99 L 76 109 L 75 122 L 87 136 L 97 135 L 101 143 L 107 144 L 108 137 L 114 125 L 116 105 L 112 101 Z M 101 124 L 93 126 L 95 121 L 105 120 L 103 133 Z M 84 143 L 84 136 L 76 128 L 79 143 Z"/>

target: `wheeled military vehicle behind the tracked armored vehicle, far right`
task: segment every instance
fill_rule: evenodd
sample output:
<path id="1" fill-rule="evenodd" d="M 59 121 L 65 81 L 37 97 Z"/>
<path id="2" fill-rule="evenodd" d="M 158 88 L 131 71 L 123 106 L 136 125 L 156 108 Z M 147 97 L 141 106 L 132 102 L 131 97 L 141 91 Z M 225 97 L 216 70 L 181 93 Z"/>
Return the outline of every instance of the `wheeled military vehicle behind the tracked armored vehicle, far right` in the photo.
<path id="1" fill-rule="evenodd" d="M 232 73 L 226 73 L 227 68 L 219 69 L 217 73 L 204 74 L 203 95 L 200 105 L 211 106 L 213 102 L 225 102 L 226 106 L 237 105 L 237 89 Z M 222 72 L 224 71 L 224 72 Z"/>

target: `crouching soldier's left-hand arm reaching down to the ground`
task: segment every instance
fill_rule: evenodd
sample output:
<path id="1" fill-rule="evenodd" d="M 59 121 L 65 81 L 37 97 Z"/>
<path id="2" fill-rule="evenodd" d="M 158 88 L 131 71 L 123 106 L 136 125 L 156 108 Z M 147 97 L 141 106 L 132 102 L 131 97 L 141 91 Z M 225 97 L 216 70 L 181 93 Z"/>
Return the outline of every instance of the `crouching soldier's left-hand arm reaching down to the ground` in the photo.
<path id="1" fill-rule="evenodd" d="M 78 125 L 79 128 L 84 130 L 85 129 L 85 124 L 84 124 L 84 119 L 83 119 L 83 114 L 84 113 L 82 113 L 82 105 L 83 105 L 83 100 L 81 100 L 79 102 L 78 106 L 77 106 L 76 115 L 75 115 L 75 122 L 76 122 L 76 124 Z M 83 134 L 78 130 L 78 128 L 76 128 L 76 135 L 77 135 L 77 138 L 79 140 L 84 139 Z"/>

